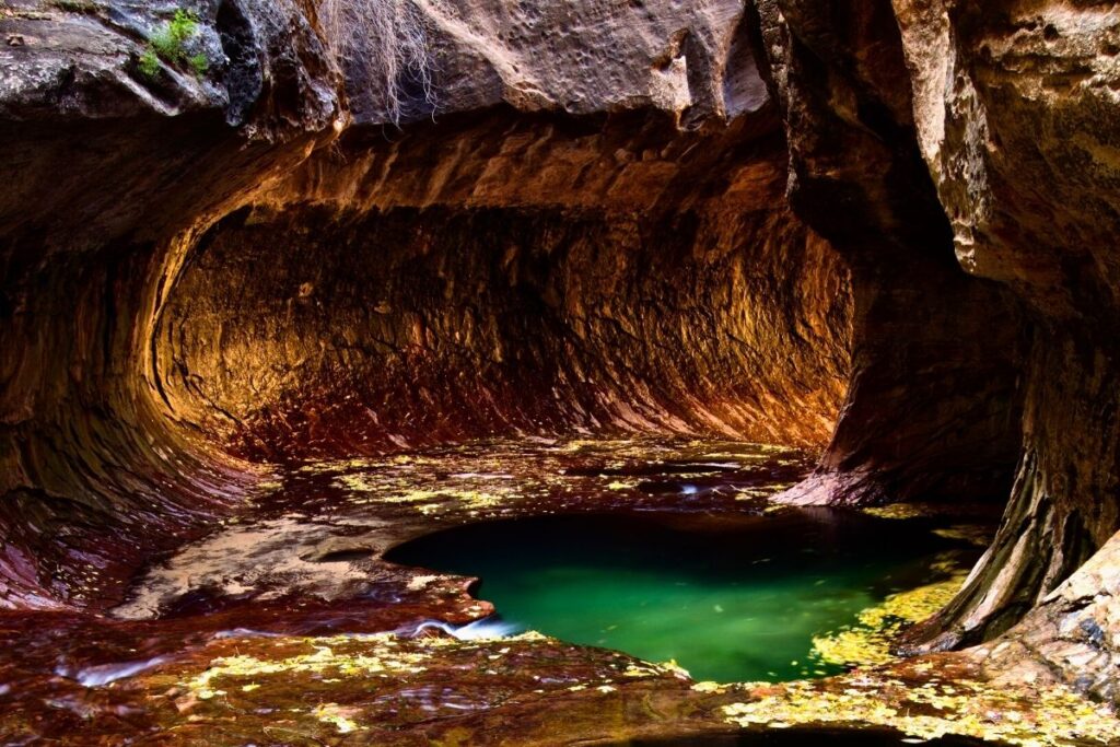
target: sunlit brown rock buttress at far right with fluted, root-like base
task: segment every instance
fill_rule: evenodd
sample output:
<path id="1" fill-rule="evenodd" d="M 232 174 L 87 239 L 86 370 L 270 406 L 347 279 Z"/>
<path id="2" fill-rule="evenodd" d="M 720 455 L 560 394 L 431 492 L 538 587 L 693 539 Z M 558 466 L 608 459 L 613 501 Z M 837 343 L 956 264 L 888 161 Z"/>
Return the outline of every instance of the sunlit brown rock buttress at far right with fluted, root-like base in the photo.
<path id="1" fill-rule="evenodd" d="M 915 111 L 956 255 L 1030 318 L 1007 525 L 943 616 L 943 645 L 998 633 L 1120 527 L 1120 16 L 1108 3 L 896 6 L 915 77 L 945 81 L 920 88 Z"/>

